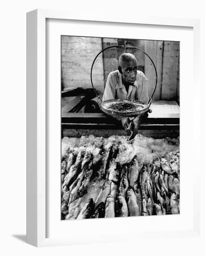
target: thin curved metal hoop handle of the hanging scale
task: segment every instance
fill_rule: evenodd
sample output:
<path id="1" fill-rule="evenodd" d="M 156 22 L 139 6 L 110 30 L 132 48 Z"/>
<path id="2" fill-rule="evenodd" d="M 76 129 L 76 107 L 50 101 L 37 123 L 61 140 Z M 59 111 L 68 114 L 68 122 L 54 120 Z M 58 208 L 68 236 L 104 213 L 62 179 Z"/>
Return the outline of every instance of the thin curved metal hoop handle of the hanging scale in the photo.
<path id="1" fill-rule="evenodd" d="M 155 67 L 155 65 L 154 65 L 153 60 L 150 58 L 150 56 L 149 56 L 147 53 L 145 53 L 144 51 L 142 51 L 140 48 L 137 48 L 137 47 L 135 47 L 135 46 L 126 46 L 126 45 L 121 45 L 121 46 L 120 46 L 120 45 L 109 46 L 109 47 L 104 48 L 102 51 L 100 51 L 100 52 L 96 55 L 96 57 L 95 57 L 95 59 L 94 59 L 94 61 L 93 61 L 93 63 L 92 63 L 92 66 L 91 66 L 91 70 L 90 70 L 90 80 L 91 80 L 92 88 L 94 89 L 94 91 L 95 91 L 95 93 L 96 93 L 96 97 L 97 97 L 98 99 L 100 99 L 100 101 L 102 102 L 102 99 L 101 99 L 100 96 L 97 94 L 97 91 L 96 91 L 96 89 L 95 89 L 94 86 L 93 86 L 92 70 L 93 70 L 94 63 L 95 63 L 97 57 L 98 57 L 102 52 L 104 52 L 105 50 L 107 50 L 107 49 L 109 49 L 109 48 L 114 48 L 114 47 L 116 47 L 116 48 L 123 48 L 124 50 L 126 50 L 126 49 L 128 49 L 128 48 L 137 49 L 137 50 L 141 51 L 143 54 L 145 54 L 145 55 L 150 59 L 150 61 L 152 62 L 153 66 L 154 66 L 154 71 L 155 71 L 155 73 L 156 73 L 156 83 L 155 83 L 155 87 L 154 87 L 153 94 L 152 94 L 152 96 L 149 98 L 149 101 L 148 101 L 148 103 L 147 103 L 147 104 L 149 105 L 149 107 L 150 107 L 150 105 L 151 105 L 151 103 L 152 103 L 153 95 L 154 95 L 155 90 L 156 90 L 156 87 L 157 87 L 157 69 L 156 69 L 156 67 Z"/>

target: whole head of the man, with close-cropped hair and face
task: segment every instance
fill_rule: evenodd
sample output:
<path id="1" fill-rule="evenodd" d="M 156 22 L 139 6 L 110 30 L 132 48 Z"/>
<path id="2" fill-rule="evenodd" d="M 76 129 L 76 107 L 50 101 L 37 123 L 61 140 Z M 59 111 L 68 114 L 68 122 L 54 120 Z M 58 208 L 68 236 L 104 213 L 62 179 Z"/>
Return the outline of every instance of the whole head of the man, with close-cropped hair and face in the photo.
<path id="1" fill-rule="evenodd" d="M 137 75 L 137 60 L 133 54 L 121 54 L 118 61 L 118 70 L 122 74 L 125 86 L 134 85 Z"/>

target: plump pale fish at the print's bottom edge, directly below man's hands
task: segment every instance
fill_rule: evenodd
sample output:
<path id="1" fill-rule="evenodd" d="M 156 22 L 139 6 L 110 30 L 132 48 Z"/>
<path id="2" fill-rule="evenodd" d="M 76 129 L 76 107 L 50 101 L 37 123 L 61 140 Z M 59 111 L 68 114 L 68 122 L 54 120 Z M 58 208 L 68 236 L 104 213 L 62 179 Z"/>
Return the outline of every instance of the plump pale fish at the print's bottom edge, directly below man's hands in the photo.
<path id="1" fill-rule="evenodd" d="M 126 193 L 126 201 L 128 204 L 129 216 L 140 216 L 140 207 L 132 187 L 129 187 Z"/>

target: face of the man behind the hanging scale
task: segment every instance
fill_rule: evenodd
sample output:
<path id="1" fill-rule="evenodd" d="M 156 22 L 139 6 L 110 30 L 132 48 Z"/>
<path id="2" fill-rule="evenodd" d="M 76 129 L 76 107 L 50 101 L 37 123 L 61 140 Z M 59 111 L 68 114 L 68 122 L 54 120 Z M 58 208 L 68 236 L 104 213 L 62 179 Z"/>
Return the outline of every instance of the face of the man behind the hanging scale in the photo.
<path id="1" fill-rule="evenodd" d="M 133 85 L 137 75 L 137 63 L 130 59 L 122 63 L 122 81 L 125 85 Z"/>

